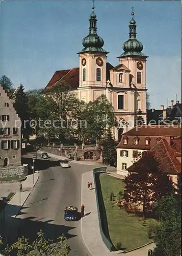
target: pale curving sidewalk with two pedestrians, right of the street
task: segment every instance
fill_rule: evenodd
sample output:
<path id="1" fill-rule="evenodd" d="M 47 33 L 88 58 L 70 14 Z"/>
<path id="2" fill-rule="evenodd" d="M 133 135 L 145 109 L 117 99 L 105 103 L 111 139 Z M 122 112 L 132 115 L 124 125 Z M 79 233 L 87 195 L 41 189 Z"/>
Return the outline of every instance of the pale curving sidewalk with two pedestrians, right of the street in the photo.
<path id="1" fill-rule="evenodd" d="M 92 171 L 82 175 L 81 204 L 85 205 L 85 214 L 90 212 L 88 216 L 81 219 L 81 232 L 83 240 L 92 256 L 111 256 L 113 254 L 123 254 L 122 251 L 110 252 L 105 243 L 103 243 L 100 235 L 95 189 L 88 189 L 88 181 L 94 183 Z M 124 253 L 124 255 L 147 256 L 148 250 L 153 249 L 153 247 L 154 244 L 152 243 L 140 249 Z"/>

